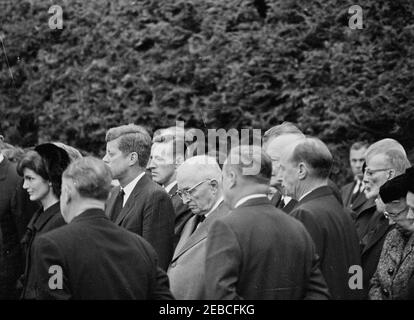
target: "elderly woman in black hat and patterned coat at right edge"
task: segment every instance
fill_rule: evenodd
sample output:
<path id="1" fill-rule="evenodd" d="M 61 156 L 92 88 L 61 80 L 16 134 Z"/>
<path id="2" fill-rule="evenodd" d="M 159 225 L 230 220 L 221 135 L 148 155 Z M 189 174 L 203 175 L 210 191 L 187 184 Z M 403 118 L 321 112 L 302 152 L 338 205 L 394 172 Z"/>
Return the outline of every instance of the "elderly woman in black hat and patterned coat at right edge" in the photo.
<path id="1" fill-rule="evenodd" d="M 414 276 L 414 168 L 384 184 L 380 197 L 385 216 L 396 227 L 385 239 L 369 298 L 408 299 Z"/>

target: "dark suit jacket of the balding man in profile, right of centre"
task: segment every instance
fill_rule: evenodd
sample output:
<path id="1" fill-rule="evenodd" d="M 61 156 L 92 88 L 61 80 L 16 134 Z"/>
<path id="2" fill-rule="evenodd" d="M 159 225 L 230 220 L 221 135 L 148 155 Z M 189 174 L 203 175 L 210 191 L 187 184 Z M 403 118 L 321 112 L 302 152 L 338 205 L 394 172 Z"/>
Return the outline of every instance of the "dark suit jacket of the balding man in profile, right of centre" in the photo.
<path id="1" fill-rule="evenodd" d="M 360 290 L 348 285 L 349 268 L 360 265 L 360 247 L 354 223 L 330 187 L 313 190 L 299 201 L 291 216 L 311 234 L 321 270 L 333 299 L 358 299 Z"/>

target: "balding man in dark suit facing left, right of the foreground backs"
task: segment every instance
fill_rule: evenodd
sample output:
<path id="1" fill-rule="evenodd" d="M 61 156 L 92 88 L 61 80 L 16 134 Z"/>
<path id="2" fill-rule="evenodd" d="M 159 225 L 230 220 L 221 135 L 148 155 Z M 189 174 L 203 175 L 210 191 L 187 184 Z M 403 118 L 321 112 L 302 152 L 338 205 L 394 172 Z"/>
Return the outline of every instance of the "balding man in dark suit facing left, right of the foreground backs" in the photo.
<path id="1" fill-rule="evenodd" d="M 284 148 L 283 186 L 298 204 L 291 216 L 311 234 L 322 274 L 333 299 L 356 299 L 361 290 L 349 287 L 351 266 L 360 265 L 358 235 L 349 214 L 328 186 L 332 155 L 317 138 L 305 138 Z"/>

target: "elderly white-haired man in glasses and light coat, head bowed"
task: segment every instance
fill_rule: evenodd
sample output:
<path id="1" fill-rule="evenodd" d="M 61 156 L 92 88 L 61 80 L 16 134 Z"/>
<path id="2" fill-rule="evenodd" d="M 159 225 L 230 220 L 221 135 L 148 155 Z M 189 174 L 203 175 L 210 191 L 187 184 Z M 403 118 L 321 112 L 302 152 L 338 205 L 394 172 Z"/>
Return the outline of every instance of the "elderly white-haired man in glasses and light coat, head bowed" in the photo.
<path id="1" fill-rule="evenodd" d="M 207 234 L 217 218 L 229 212 L 223 202 L 221 169 L 213 157 L 187 159 L 177 169 L 177 194 L 194 214 L 185 224 L 168 268 L 176 299 L 205 299 Z"/>

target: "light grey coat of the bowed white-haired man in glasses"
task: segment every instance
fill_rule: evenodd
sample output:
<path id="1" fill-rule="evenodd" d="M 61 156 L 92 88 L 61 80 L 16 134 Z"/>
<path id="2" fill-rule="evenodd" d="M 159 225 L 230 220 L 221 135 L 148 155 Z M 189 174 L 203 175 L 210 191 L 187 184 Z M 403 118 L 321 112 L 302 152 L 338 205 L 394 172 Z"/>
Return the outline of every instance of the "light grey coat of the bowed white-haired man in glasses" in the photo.
<path id="1" fill-rule="evenodd" d="M 202 300 L 206 298 L 205 256 L 208 230 L 216 219 L 228 214 L 229 210 L 230 208 L 222 202 L 195 231 L 196 215 L 193 215 L 186 223 L 168 268 L 171 292 L 176 299 Z"/>

